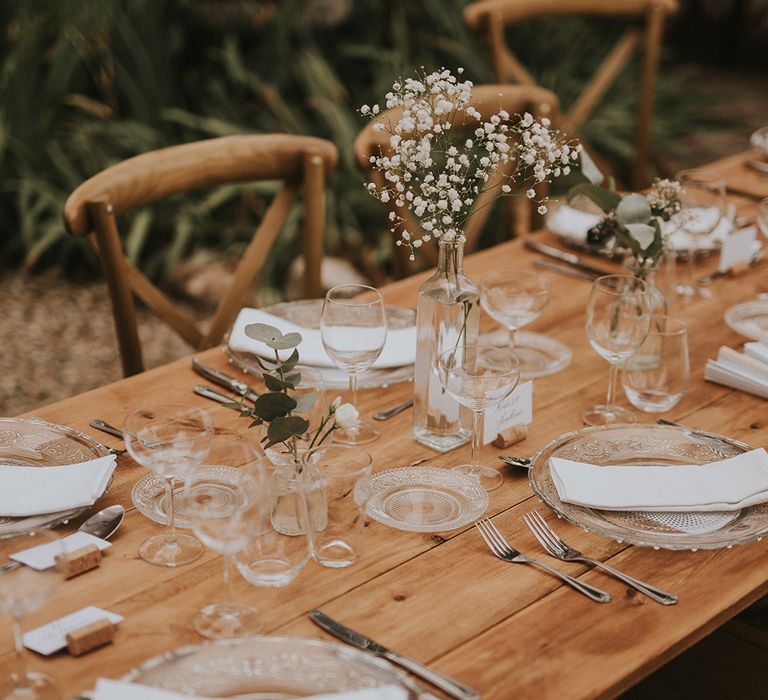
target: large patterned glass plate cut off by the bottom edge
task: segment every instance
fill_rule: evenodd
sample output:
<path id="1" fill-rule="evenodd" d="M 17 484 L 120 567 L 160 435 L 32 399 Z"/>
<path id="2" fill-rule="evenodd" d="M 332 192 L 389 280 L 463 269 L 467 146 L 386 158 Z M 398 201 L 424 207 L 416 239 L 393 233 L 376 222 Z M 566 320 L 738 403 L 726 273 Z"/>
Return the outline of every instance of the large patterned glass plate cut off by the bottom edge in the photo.
<path id="1" fill-rule="evenodd" d="M 394 685 L 415 700 L 401 671 L 341 644 L 255 637 L 181 647 L 145 661 L 123 680 L 211 698 L 282 700 Z"/>

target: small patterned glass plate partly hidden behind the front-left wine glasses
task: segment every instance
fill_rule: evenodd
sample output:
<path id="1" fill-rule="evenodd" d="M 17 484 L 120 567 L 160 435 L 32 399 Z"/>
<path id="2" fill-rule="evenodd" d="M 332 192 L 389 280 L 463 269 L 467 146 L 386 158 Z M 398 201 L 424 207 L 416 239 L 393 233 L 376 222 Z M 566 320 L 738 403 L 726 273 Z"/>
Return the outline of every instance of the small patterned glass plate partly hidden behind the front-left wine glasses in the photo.
<path id="1" fill-rule="evenodd" d="M 234 467 L 203 467 L 211 479 L 208 496 L 212 501 L 221 503 L 223 509 L 231 506 L 236 499 L 234 489 L 227 484 L 236 485 L 240 481 L 240 472 Z M 202 489 L 203 487 L 200 486 Z M 165 498 L 165 479 L 156 474 L 147 474 L 139 479 L 131 490 L 131 501 L 142 515 L 160 525 L 168 524 L 168 509 Z M 189 529 L 190 524 L 184 515 L 184 482 L 177 479 L 173 484 L 173 512 L 176 514 L 176 527 Z"/>

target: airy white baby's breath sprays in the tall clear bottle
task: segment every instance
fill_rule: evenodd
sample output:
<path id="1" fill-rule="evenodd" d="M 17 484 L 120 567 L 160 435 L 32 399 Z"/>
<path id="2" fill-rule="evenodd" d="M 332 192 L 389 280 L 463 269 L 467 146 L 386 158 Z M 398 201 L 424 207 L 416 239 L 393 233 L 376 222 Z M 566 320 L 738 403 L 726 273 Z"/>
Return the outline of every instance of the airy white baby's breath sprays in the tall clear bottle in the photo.
<path id="1" fill-rule="evenodd" d="M 513 185 L 522 186 L 546 213 L 546 198 L 535 186 L 567 175 L 581 152 L 550 128 L 549 119 L 500 109 L 483 121 L 471 98 L 470 81 L 440 69 L 392 86 L 386 108 L 402 110 L 396 123 L 386 120 L 379 105 L 360 108 L 375 121 L 376 131 L 390 136 L 388 152 L 371 156 L 384 184 L 370 183 L 368 191 L 383 203 L 407 208 L 416 219 L 420 231 L 409 230 L 397 212 L 389 214 L 397 245 L 410 248 L 411 260 L 415 249 L 433 238 L 462 240 L 475 201 L 489 189 L 509 194 Z M 453 132 L 457 126 L 474 128 L 469 134 L 462 129 L 459 138 Z"/>

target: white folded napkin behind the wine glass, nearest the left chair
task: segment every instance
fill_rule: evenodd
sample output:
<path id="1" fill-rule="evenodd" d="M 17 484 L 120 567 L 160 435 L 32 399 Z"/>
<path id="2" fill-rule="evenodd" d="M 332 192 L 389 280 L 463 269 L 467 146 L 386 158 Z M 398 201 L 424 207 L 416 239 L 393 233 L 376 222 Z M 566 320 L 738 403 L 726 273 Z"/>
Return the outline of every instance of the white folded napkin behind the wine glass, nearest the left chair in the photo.
<path id="1" fill-rule="evenodd" d="M 335 367 L 334 361 L 328 357 L 328 353 L 323 347 L 323 340 L 320 331 L 316 328 L 301 328 L 284 318 L 273 316 L 261 309 L 244 308 L 235 319 L 232 330 L 229 334 L 229 347 L 238 352 L 252 352 L 265 358 L 274 359 L 275 351 L 268 348 L 264 343 L 253 340 L 245 334 L 245 327 L 250 323 L 266 323 L 274 326 L 281 333 L 301 333 L 302 341 L 299 345 L 299 355 L 301 364 L 312 367 Z M 364 329 L 355 329 L 361 333 Z M 281 352 L 281 357 L 285 359 L 289 352 Z M 403 365 L 412 365 L 416 361 L 416 327 L 397 328 L 387 332 L 387 339 L 384 343 L 384 350 L 373 363 L 374 368 L 402 367 Z"/>

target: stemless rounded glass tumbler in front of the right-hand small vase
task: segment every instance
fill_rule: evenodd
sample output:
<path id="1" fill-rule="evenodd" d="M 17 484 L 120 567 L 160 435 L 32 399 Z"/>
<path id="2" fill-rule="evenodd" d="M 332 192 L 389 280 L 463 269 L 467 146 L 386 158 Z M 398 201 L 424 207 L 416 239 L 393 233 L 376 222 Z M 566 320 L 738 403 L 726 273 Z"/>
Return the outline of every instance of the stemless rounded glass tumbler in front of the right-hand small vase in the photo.
<path id="1" fill-rule="evenodd" d="M 685 323 L 671 316 L 652 316 L 645 341 L 622 368 L 624 394 L 641 411 L 664 413 L 683 398 L 690 378 Z"/>

